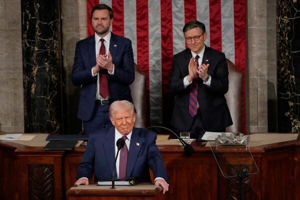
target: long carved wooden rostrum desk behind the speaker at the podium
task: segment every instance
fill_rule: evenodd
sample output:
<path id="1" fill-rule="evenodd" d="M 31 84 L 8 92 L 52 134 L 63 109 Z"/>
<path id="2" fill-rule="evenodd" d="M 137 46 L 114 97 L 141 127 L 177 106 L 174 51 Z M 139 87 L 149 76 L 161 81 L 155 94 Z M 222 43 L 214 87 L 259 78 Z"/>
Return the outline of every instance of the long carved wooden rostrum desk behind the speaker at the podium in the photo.
<path id="1" fill-rule="evenodd" d="M 255 135 L 259 145 L 250 150 L 259 173 L 245 180 L 245 196 L 253 200 L 300 199 L 300 137 L 282 141 L 294 134 Z M 259 143 L 275 137 L 280 141 Z M 192 142 L 195 152 L 186 156 L 178 141 L 166 144 L 165 138 L 159 135 L 157 145 L 170 185 L 169 191 L 156 195 L 156 199 L 238 198 L 238 193 L 230 189 L 238 184 L 237 179 L 228 181 L 221 175 L 206 142 Z M 46 151 L 43 146 L 0 140 L 0 199 L 65 199 L 65 192 L 76 180 L 84 149 L 80 145 L 71 151 Z M 234 156 L 242 153 L 234 152 Z"/>

